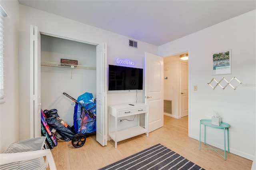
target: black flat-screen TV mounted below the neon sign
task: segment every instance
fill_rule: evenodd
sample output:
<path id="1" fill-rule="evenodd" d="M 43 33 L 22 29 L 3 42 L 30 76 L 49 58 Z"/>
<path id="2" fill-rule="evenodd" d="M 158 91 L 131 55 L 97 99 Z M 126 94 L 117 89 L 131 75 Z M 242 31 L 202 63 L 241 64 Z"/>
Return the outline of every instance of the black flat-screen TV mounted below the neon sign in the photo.
<path id="1" fill-rule="evenodd" d="M 108 90 L 142 90 L 143 69 L 108 65 Z"/>

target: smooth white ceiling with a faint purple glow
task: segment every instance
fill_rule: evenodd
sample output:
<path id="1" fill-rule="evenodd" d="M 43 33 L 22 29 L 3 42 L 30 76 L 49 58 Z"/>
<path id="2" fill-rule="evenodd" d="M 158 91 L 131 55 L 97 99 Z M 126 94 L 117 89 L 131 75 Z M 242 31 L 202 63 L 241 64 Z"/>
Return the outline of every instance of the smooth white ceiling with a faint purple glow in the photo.
<path id="1" fill-rule="evenodd" d="M 255 0 L 19 0 L 19 3 L 157 46 L 256 9 Z"/>

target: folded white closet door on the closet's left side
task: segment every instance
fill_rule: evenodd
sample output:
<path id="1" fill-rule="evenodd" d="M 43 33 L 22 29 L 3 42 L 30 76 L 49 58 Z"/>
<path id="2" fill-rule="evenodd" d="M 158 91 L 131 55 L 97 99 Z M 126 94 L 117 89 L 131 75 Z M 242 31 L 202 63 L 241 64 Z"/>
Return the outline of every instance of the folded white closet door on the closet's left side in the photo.
<path id="1" fill-rule="evenodd" d="M 30 26 L 30 138 L 41 136 L 41 36 Z"/>

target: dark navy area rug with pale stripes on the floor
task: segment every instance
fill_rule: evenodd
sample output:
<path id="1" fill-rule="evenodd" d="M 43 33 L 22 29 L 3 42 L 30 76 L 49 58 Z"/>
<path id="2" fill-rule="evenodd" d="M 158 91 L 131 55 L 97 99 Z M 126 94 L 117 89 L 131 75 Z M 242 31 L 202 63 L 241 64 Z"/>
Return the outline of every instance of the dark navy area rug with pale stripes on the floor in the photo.
<path id="1" fill-rule="evenodd" d="M 100 170 L 204 170 L 183 156 L 156 144 Z"/>

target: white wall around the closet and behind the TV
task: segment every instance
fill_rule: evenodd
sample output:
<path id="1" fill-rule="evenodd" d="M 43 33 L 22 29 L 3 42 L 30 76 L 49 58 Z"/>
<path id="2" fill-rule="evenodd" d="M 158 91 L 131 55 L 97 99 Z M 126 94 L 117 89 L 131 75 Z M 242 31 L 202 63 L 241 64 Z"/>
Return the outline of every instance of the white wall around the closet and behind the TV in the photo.
<path id="1" fill-rule="evenodd" d="M 107 64 L 115 65 L 115 59 L 129 58 L 135 62 L 134 67 L 144 68 L 145 51 L 157 54 L 158 47 L 138 41 L 138 49 L 128 47 L 128 37 L 121 36 L 106 30 L 92 27 L 74 20 L 62 18 L 47 12 L 20 5 L 20 34 L 19 34 L 19 55 L 20 55 L 20 122 L 30 120 L 29 117 L 29 91 L 30 68 L 27 67 L 30 56 L 29 31 L 30 25 L 38 26 L 42 33 L 57 35 L 94 44 L 107 43 Z M 144 90 L 138 91 L 138 102 L 144 100 Z M 136 91 L 108 92 L 107 104 L 117 104 L 136 101 Z M 22 125 L 20 138 L 29 138 L 28 129 L 30 125 Z"/>

